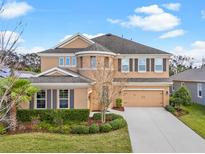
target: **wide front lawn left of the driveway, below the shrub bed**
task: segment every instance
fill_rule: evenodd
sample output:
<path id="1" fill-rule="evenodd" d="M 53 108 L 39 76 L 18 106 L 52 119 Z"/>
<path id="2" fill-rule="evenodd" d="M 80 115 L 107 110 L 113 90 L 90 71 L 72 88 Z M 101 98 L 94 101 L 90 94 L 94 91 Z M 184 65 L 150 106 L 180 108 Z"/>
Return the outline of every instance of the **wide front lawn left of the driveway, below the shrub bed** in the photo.
<path id="1" fill-rule="evenodd" d="M 0 136 L 1 152 L 132 152 L 127 128 L 94 135 L 25 133 Z"/>

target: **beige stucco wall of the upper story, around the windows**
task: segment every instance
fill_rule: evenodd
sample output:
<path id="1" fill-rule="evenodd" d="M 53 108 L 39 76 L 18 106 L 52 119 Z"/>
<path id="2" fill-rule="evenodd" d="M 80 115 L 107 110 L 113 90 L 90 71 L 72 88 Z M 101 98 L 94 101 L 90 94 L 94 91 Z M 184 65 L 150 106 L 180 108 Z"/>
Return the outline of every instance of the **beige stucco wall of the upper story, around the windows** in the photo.
<path id="1" fill-rule="evenodd" d="M 87 77 L 91 77 L 90 75 L 93 72 L 93 69 L 91 69 L 90 67 L 90 56 L 91 55 L 84 55 L 83 56 L 83 68 L 80 68 L 80 57 L 77 57 L 77 66 L 76 67 L 63 67 L 63 68 L 68 68 L 72 71 L 75 72 L 79 72 L 82 73 L 83 75 L 87 76 Z M 99 66 L 102 66 L 104 64 L 104 58 L 107 57 L 107 55 L 105 56 L 99 56 L 99 55 L 95 55 L 96 56 L 96 60 L 97 60 L 97 68 Z M 49 56 L 49 57 L 43 57 L 41 56 L 41 71 L 46 71 L 48 69 L 51 69 L 53 67 L 57 67 L 58 66 L 58 60 L 59 57 L 57 56 Z M 109 67 L 110 69 L 114 70 L 114 77 L 115 78 L 123 78 L 123 77 L 127 77 L 127 78 L 169 78 L 169 61 L 167 60 L 167 65 L 166 65 L 166 72 L 128 72 L 128 73 L 123 73 L 123 72 L 118 72 L 118 60 L 117 58 L 114 57 L 109 57 L 110 60 L 110 64 L 111 67 Z"/>

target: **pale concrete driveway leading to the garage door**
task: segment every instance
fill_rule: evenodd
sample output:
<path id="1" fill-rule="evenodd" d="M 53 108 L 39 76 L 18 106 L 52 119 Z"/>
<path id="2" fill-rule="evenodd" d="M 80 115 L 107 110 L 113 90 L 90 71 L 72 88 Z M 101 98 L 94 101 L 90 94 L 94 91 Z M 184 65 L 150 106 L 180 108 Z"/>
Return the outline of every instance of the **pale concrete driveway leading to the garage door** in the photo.
<path id="1" fill-rule="evenodd" d="M 133 152 L 205 152 L 205 140 L 164 108 L 126 108 Z"/>

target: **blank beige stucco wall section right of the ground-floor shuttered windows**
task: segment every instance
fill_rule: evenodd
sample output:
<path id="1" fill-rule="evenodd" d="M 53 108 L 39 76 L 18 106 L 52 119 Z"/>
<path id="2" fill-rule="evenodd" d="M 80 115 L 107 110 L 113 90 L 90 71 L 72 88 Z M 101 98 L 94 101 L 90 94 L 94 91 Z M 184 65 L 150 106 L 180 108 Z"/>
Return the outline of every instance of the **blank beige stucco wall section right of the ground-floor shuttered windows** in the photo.
<path id="1" fill-rule="evenodd" d="M 88 89 L 77 88 L 74 89 L 74 108 L 75 109 L 87 109 L 88 104 Z"/>

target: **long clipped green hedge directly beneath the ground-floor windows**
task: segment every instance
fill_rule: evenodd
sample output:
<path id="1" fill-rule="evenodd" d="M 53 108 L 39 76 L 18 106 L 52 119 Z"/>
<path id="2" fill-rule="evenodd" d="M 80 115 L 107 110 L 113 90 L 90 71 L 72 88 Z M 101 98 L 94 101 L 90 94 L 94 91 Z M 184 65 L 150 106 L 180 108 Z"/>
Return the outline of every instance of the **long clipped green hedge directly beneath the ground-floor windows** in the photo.
<path id="1" fill-rule="evenodd" d="M 18 110 L 17 120 L 21 122 L 30 122 L 33 118 L 40 121 L 53 123 L 56 120 L 63 122 L 87 121 L 90 111 L 88 109 L 63 109 L 63 110 Z"/>

